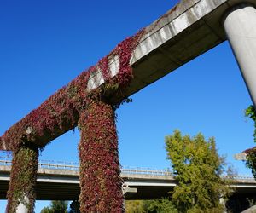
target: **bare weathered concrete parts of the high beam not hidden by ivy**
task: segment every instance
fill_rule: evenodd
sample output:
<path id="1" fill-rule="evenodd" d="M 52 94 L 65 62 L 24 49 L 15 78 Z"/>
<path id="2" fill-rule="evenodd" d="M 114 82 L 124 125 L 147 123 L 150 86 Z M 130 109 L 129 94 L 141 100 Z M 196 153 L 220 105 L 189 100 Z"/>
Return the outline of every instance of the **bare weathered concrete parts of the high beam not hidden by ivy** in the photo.
<path id="1" fill-rule="evenodd" d="M 159 20 L 146 27 L 146 34 L 138 43 L 131 58 L 134 79 L 130 87 L 122 91 L 124 96 L 119 98 L 136 93 L 189 60 L 224 42 L 227 38 L 222 24 L 223 16 L 238 3 L 255 4 L 255 0 L 182 0 Z M 112 55 L 109 63 L 114 76 L 119 71 L 118 56 Z M 102 73 L 98 70 L 90 77 L 87 89 L 94 89 L 102 83 L 104 83 Z M 112 99 L 113 102 L 120 101 L 115 96 Z M 64 130 L 55 130 L 53 135 L 35 138 L 37 141 L 42 141 L 43 144 L 40 146 L 44 147 L 65 131 L 73 129 L 72 124 L 64 126 Z M 0 147 L 7 149 L 8 145 L 0 141 Z"/>

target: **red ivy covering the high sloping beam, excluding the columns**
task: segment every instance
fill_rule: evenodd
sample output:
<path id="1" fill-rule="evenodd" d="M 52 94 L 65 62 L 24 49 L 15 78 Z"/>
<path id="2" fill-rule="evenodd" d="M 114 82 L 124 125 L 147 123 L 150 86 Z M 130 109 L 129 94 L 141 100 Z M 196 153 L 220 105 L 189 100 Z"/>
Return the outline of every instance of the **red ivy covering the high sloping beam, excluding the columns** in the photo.
<path id="1" fill-rule="evenodd" d="M 130 83 L 132 78 L 131 53 L 136 48 L 142 35 L 143 31 L 138 32 L 133 37 L 126 38 L 108 56 L 99 60 L 96 66 L 91 66 L 86 72 L 82 72 L 67 87 L 59 89 L 40 107 L 14 124 L 0 137 L 0 148 L 7 150 L 19 149 L 26 141 L 33 142 L 36 146 L 42 148 L 51 138 L 54 139 L 67 130 L 73 129 L 77 124 L 79 112 L 86 107 L 87 96 L 89 95 L 87 83 L 91 73 L 96 71 L 96 67 L 99 67 L 102 71 L 106 83 L 118 84 L 119 88 Z M 108 58 L 116 54 L 119 55 L 119 73 L 116 78 L 112 79 Z M 110 78 L 111 82 L 109 82 Z M 99 89 L 95 93 L 101 95 L 101 90 Z M 31 128 L 32 133 L 26 133 L 27 128 Z M 43 137 L 44 140 L 41 140 Z M 5 148 L 3 147 L 3 141 L 6 145 Z"/>

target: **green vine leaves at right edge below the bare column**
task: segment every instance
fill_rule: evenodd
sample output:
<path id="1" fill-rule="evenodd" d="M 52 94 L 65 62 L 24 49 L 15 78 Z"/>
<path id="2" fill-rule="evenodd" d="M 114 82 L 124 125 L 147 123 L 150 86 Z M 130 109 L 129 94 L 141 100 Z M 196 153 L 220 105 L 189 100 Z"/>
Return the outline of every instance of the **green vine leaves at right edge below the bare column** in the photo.
<path id="1" fill-rule="evenodd" d="M 253 138 L 254 138 L 254 142 L 256 142 L 256 110 L 253 107 L 253 105 L 247 108 L 245 115 L 251 118 L 254 122 Z M 253 176 L 256 179 L 256 147 L 247 149 L 244 152 L 247 154 L 247 161 L 246 161 L 247 168 L 252 170 Z"/>

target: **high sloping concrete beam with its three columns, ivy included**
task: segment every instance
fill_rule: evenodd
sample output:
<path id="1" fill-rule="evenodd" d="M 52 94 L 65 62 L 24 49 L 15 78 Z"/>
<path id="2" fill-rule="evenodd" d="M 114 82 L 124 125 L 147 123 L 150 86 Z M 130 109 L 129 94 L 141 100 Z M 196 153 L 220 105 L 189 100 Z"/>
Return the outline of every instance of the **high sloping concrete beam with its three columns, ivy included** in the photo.
<path id="1" fill-rule="evenodd" d="M 255 26 L 254 0 L 182 0 L 119 43 L 0 138 L 0 149 L 14 152 L 7 211 L 32 212 L 41 187 L 34 186 L 38 149 L 78 124 L 81 211 L 123 211 L 114 110 L 129 95 L 227 38 L 255 106 Z"/>

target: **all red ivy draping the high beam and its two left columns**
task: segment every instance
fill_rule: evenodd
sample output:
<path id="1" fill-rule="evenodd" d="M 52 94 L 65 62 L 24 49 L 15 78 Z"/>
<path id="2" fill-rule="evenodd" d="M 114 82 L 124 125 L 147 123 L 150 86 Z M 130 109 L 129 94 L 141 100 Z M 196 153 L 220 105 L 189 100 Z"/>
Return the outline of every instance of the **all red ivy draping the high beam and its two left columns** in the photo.
<path id="1" fill-rule="evenodd" d="M 13 168 L 8 193 L 7 212 L 22 203 L 32 212 L 38 168 L 38 148 L 50 138 L 75 127 L 79 121 L 81 141 L 79 202 L 81 212 L 123 212 L 119 177 L 118 138 L 114 110 L 124 100 L 122 89 L 131 83 L 131 54 L 144 31 L 126 38 L 106 57 L 82 72 L 67 86 L 13 125 L 0 138 L 0 149 L 13 150 Z M 113 76 L 109 60 L 118 56 L 119 72 Z M 96 79 L 101 72 L 104 83 Z M 88 88 L 89 83 L 95 84 Z M 115 101 L 113 102 L 113 96 Z M 33 148 L 29 148 L 29 147 Z M 26 198 L 28 200 L 26 200 Z"/>

